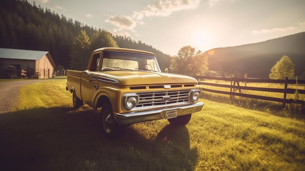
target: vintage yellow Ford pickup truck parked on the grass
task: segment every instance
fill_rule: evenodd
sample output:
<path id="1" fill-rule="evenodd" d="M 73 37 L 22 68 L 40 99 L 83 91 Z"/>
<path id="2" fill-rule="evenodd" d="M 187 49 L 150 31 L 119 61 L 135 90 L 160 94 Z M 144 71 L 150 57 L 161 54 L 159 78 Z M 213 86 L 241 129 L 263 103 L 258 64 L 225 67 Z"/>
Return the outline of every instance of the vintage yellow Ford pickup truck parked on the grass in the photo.
<path id="1" fill-rule="evenodd" d="M 75 108 L 83 103 L 101 108 L 108 136 L 122 134 L 124 126 L 156 119 L 183 126 L 204 105 L 198 102 L 202 87 L 195 78 L 161 72 L 155 54 L 133 49 L 96 49 L 87 70 L 67 71 L 66 89 Z"/>

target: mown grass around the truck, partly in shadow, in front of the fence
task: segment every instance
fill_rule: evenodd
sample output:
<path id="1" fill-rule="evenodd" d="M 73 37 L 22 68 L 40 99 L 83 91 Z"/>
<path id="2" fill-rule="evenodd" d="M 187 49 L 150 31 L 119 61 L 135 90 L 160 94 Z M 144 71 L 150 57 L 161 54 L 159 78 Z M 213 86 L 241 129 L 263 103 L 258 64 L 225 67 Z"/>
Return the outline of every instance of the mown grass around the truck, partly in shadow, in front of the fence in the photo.
<path id="1" fill-rule="evenodd" d="M 102 135 L 98 112 L 72 108 L 65 78 L 24 86 L 0 114 L 1 171 L 302 171 L 305 120 L 201 99 L 185 127 L 133 124 Z"/>

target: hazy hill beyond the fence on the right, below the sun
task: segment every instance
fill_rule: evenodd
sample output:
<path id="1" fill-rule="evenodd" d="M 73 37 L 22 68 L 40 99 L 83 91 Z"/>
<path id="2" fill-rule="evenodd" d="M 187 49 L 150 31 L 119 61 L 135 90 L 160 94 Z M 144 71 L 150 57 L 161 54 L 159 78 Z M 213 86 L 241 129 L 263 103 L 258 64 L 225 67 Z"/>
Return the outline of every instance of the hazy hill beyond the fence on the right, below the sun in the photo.
<path id="1" fill-rule="evenodd" d="M 295 64 L 295 76 L 300 77 L 305 72 L 305 32 L 259 43 L 215 48 L 205 54 L 211 71 L 224 72 L 226 76 L 248 73 L 248 77 L 255 78 L 268 78 L 272 66 L 287 55 Z"/>

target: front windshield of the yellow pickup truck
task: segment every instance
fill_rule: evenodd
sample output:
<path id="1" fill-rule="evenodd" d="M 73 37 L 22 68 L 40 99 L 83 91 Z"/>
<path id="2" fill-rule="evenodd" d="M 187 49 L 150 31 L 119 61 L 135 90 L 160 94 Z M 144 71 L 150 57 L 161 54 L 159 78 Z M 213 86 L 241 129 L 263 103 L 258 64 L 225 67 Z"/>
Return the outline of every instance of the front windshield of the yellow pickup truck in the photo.
<path id="1" fill-rule="evenodd" d="M 161 72 L 157 60 L 149 54 L 106 51 L 102 57 L 102 71 L 131 70 Z"/>

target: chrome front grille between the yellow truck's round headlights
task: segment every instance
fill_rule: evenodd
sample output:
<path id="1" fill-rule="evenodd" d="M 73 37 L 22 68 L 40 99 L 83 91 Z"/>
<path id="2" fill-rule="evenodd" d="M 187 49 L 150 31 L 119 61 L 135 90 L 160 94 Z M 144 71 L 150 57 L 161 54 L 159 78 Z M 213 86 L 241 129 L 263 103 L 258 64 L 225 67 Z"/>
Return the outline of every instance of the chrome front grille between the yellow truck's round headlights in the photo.
<path id="1" fill-rule="evenodd" d="M 173 91 L 157 91 L 157 92 L 141 92 L 137 93 L 139 102 L 136 108 L 156 107 L 159 105 L 178 105 L 179 103 L 189 102 L 189 94 L 191 90 L 173 90 Z M 170 96 L 168 101 L 163 100 L 164 96 Z"/>

